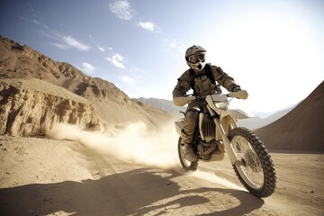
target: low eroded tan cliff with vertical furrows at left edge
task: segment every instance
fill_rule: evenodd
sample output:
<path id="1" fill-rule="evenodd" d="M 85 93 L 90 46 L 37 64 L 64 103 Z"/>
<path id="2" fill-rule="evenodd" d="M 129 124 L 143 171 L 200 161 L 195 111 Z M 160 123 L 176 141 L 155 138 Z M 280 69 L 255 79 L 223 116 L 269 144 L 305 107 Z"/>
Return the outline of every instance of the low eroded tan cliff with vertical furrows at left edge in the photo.
<path id="1" fill-rule="evenodd" d="M 94 106 L 85 98 L 38 79 L 2 79 L 0 134 L 48 134 L 58 122 L 97 129 Z"/>

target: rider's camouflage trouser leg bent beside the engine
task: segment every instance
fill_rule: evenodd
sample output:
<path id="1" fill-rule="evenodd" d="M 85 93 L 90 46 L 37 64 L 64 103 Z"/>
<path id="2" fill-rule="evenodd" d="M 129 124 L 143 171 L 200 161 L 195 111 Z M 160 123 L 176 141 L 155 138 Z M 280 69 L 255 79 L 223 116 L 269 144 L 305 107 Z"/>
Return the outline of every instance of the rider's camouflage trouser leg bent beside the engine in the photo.
<path id="1" fill-rule="evenodd" d="M 194 130 L 198 124 L 199 112 L 202 111 L 202 102 L 189 103 L 184 115 L 184 129 L 182 130 L 184 143 L 193 142 Z"/>

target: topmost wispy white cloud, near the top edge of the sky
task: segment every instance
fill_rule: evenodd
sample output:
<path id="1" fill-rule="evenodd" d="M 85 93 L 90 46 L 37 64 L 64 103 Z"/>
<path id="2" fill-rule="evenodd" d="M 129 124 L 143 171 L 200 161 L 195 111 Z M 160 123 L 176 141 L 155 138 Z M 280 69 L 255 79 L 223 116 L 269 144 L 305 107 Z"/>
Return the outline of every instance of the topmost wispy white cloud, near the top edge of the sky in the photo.
<path id="1" fill-rule="evenodd" d="M 127 0 L 115 0 L 109 4 L 109 9 L 121 20 L 131 20 L 132 18 L 130 3 Z"/>

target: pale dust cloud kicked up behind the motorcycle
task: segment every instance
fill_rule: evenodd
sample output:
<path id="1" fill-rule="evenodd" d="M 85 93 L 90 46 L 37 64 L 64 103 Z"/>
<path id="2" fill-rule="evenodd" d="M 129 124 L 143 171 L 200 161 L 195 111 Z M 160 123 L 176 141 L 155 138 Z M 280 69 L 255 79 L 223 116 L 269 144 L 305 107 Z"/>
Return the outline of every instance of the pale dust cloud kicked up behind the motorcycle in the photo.
<path id="1" fill-rule="evenodd" d="M 174 122 L 169 122 L 159 130 L 149 130 L 144 122 L 130 123 L 124 129 L 108 136 L 97 131 L 85 131 L 75 125 L 59 123 L 50 130 L 53 139 L 71 139 L 95 150 L 103 157 L 115 157 L 131 164 L 156 166 L 160 168 L 181 170 L 177 155 L 178 134 Z M 242 190 L 241 186 L 221 178 L 212 172 L 189 172 L 196 178 Z"/>

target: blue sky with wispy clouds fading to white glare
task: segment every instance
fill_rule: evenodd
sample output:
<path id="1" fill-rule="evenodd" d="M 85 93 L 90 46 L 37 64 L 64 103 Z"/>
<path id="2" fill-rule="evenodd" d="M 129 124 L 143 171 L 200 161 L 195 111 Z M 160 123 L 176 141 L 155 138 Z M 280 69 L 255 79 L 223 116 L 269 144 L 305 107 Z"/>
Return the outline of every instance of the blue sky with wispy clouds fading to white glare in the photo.
<path id="1" fill-rule="evenodd" d="M 0 34 L 131 98 L 172 100 L 185 49 L 232 76 L 247 112 L 300 103 L 324 80 L 322 0 L 3 0 Z"/>

